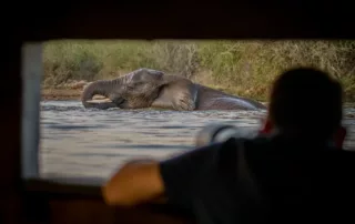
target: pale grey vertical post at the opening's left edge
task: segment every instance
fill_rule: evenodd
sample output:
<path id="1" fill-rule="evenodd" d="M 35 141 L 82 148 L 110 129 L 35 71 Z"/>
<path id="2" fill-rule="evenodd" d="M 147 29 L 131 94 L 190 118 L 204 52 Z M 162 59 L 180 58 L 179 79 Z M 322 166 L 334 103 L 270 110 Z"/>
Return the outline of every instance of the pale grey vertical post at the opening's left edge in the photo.
<path id="1" fill-rule="evenodd" d="M 29 180 L 39 177 L 42 43 L 24 43 L 21 54 L 21 177 Z"/>

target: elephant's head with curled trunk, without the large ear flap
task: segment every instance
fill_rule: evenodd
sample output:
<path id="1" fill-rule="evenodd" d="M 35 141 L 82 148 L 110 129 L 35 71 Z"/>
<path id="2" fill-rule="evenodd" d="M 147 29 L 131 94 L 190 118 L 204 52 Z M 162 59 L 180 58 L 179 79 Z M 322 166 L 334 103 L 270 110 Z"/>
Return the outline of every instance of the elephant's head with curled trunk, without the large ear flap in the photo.
<path id="1" fill-rule="evenodd" d="M 166 84 L 184 78 L 166 75 L 164 72 L 152 69 L 139 69 L 113 80 L 99 80 L 90 83 L 84 89 L 81 101 L 85 108 L 150 108 Z M 106 96 L 112 102 L 87 102 L 95 94 Z"/>

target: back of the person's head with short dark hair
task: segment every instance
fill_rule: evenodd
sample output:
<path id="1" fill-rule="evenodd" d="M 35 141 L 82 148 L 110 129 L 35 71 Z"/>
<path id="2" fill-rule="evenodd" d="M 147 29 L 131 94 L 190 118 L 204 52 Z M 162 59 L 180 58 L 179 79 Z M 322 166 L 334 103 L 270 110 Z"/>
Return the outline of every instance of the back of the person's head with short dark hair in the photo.
<path id="1" fill-rule="evenodd" d="M 327 73 L 291 69 L 274 82 L 270 119 L 281 131 L 329 138 L 342 122 L 342 85 Z"/>

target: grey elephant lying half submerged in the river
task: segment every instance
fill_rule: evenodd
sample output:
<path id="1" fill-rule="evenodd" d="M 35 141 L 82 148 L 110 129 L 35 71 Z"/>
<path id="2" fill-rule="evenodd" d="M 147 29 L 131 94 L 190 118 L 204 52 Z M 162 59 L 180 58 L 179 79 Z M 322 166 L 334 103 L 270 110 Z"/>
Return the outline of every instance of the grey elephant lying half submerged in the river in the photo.
<path id="1" fill-rule="evenodd" d="M 88 102 L 95 94 L 106 96 L 111 102 Z M 109 108 L 161 108 L 178 111 L 266 109 L 260 102 L 230 95 L 193 83 L 183 77 L 168 75 L 152 69 L 139 69 L 113 80 L 94 81 L 84 88 L 81 101 L 84 108 L 102 110 Z"/>

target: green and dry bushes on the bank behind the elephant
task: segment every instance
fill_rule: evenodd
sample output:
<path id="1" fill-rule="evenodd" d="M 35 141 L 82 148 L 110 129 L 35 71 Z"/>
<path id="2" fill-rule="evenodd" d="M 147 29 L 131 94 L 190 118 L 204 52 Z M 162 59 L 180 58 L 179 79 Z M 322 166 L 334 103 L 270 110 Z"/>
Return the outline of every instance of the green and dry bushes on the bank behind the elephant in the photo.
<path id="1" fill-rule="evenodd" d="M 151 68 L 257 100 L 267 98 L 283 70 L 313 65 L 331 72 L 355 100 L 355 41 L 63 40 L 44 44 L 43 62 L 44 88 Z"/>

